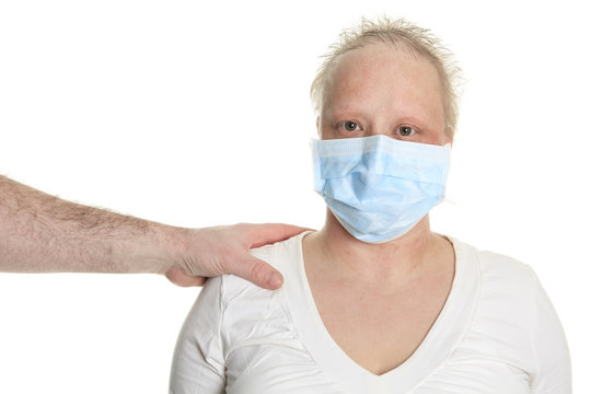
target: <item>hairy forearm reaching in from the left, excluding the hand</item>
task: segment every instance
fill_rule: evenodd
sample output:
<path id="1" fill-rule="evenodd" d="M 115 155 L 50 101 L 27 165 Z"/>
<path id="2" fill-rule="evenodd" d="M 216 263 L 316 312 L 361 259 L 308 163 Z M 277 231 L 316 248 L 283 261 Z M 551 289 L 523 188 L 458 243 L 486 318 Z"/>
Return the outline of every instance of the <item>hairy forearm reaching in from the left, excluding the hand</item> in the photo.
<path id="1" fill-rule="evenodd" d="M 162 273 L 175 231 L 65 201 L 0 176 L 0 268 L 10 273 Z M 169 247 L 162 247 L 169 244 Z"/>

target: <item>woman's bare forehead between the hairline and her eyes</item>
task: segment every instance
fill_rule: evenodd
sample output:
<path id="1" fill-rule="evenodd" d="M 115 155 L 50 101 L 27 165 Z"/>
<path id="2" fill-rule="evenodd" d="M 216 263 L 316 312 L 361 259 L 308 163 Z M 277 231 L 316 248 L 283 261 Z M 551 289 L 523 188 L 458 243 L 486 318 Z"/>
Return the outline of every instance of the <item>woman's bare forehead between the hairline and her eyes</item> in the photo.
<path id="1" fill-rule="evenodd" d="M 432 113 L 442 111 L 441 97 L 439 74 L 426 57 L 405 44 L 373 43 L 337 59 L 327 79 L 324 104 L 381 103 L 420 106 Z"/>

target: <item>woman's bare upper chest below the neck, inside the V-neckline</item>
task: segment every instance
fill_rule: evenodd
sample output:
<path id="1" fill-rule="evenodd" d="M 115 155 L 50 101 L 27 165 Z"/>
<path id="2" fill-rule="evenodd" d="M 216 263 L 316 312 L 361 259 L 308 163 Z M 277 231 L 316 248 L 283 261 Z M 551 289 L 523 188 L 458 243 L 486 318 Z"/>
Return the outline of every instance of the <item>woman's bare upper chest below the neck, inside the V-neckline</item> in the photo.
<path id="1" fill-rule="evenodd" d="M 421 283 L 394 297 L 316 291 L 324 326 L 359 366 L 380 375 L 408 359 L 428 335 L 445 303 L 450 282 Z M 317 297 L 316 297 L 317 296 Z"/>

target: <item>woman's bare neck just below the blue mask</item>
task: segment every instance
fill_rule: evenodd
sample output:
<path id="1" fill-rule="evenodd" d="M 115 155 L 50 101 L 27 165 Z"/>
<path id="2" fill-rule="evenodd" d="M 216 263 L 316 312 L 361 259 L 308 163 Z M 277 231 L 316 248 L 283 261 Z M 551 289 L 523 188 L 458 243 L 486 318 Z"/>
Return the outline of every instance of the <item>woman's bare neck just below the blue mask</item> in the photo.
<path id="1" fill-rule="evenodd" d="M 368 244 L 350 235 L 327 210 L 324 228 L 304 239 L 304 258 L 322 262 L 322 269 L 338 280 L 396 289 L 429 269 L 441 241 L 426 216 L 399 239 Z"/>

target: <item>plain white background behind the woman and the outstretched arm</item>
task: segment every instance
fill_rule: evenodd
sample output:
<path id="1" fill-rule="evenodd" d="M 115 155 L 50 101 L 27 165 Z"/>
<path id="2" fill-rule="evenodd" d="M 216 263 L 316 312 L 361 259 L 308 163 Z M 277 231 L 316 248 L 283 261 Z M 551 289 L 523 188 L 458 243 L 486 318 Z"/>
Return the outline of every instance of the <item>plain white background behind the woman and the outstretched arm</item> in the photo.
<path id="1" fill-rule="evenodd" d="M 174 225 L 320 228 L 318 57 L 361 15 L 405 16 L 464 69 L 453 204 L 433 229 L 535 269 L 590 393 L 582 3 L 2 1 L 0 173 Z M 0 392 L 166 392 L 197 293 L 149 275 L 0 275 Z"/>

